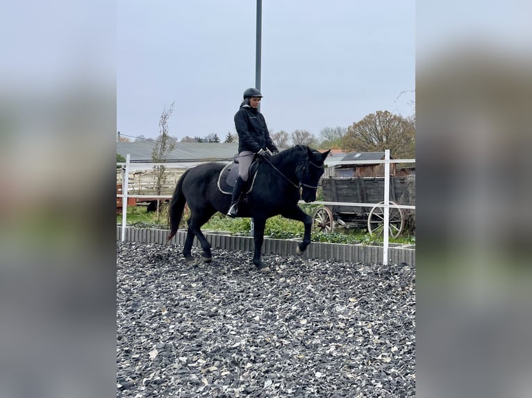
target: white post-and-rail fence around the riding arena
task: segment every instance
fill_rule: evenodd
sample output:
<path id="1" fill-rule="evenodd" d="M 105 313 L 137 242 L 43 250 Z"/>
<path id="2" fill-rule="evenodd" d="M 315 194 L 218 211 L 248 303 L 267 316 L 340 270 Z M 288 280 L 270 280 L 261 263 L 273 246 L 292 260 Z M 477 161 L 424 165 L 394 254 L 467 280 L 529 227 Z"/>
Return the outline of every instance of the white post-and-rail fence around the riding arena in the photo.
<path id="1" fill-rule="evenodd" d="M 325 162 L 326 164 L 327 162 Z M 409 209 L 415 210 L 415 206 L 412 205 L 393 205 L 390 204 L 390 164 L 392 163 L 415 163 L 415 159 L 390 159 L 390 150 L 385 150 L 385 156 L 382 160 L 353 160 L 346 162 L 336 162 L 335 165 L 342 164 L 384 164 L 384 195 L 383 195 L 383 204 L 380 203 L 361 203 L 361 202 L 329 202 L 329 201 L 320 201 L 317 200 L 313 202 L 316 205 L 326 205 L 326 206 L 376 206 L 383 207 L 384 213 L 384 225 L 390 223 L 390 208 L 397 209 Z M 179 163 L 135 163 L 136 168 L 142 168 L 142 166 L 147 166 L 147 168 L 152 168 L 153 166 L 165 166 L 167 168 L 178 167 L 178 168 L 190 168 L 196 166 L 197 162 L 179 162 Z M 171 195 L 151 195 L 151 194 L 138 194 L 138 195 L 128 195 L 128 176 L 131 168 L 130 155 L 126 155 L 125 163 L 117 163 L 117 166 L 122 166 L 123 176 L 122 176 L 122 194 L 117 193 L 117 198 L 122 198 L 122 241 L 126 239 L 126 227 L 127 227 L 127 202 L 128 198 L 160 198 L 160 199 L 171 199 Z M 389 228 L 383 228 L 383 263 L 388 265 L 388 248 L 390 245 L 390 231 Z"/>

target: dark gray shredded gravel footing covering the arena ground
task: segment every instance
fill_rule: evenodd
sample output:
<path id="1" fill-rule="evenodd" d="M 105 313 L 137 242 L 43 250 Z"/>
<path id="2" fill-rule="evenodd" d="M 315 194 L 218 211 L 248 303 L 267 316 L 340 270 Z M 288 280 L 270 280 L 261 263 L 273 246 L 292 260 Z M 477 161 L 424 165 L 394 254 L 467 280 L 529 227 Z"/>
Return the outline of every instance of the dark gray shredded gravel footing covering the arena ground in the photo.
<path id="1" fill-rule="evenodd" d="M 410 266 L 181 250 L 117 242 L 117 397 L 415 397 Z"/>

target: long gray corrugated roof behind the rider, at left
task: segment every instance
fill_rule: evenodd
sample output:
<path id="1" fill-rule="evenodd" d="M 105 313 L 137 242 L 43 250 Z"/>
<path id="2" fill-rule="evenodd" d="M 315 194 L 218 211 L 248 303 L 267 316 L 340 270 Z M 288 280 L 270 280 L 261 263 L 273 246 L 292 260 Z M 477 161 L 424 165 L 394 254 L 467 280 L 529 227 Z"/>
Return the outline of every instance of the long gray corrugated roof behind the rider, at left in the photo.
<path id="1" fill-rule="evenodd" d="M 131 155 L 131 160 L 151 161 L 153 141 L 117 142 L 117 153 L 126 157 Z M 228 159 L 238 153 L 238 143 L 201 143 L 201 142 L 178 142 L 176 148 L 169 153 L 170 160 L 192 159 Z"/>

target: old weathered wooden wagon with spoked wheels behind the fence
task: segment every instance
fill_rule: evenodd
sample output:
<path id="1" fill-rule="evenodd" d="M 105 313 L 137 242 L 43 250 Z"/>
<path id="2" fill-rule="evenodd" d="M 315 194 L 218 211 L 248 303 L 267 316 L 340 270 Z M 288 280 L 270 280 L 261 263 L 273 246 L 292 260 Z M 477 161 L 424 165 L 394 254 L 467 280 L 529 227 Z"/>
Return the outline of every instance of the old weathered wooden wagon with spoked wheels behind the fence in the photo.
<path id="1" fill-rule="evenodd" d="M 410 204 L 407 177 L 390 176 L 390 205 Z M 384 228 L 383 177 L 329 177 L 322 179 L 325 202 L 372 203 L 376 205 L 331 205 L 317 208 L 313 213 L 315 230 L 333 232 L 335 225 L 345 228 L 366 228 L 370 234 L 382 234 Z M 390 207 L 390 236 L 397 237 L 404 227 L 404 211 Z"/>

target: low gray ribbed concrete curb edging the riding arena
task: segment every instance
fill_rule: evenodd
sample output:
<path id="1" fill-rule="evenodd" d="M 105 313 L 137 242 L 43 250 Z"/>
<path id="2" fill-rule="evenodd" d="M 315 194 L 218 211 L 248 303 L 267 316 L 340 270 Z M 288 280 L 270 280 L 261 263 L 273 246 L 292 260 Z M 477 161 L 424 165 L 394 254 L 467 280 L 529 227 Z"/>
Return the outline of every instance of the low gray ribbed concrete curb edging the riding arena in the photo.
<path id="1" fill-rule="evenodd" d="M 233 236 L 216 232 L 203 232 L 212 245 L 213 250 L 253 251 L 253 238 L 250 236 Z M 126 228 L 126 241 L 139 243 L 159 243 L 183 245 L 185 243 L 185 230 L 178 230 L 176 236 L 167 243 L 168 230 L 156 230 L 151 228 Z M 122 226 L 117 225 L 117 241 L 122 240 Z M 284 239 L 265 238 L 263 254 L 295 255 L 297 241 Z M 194 245 L 199 247 L 197 239 Z M 213 256 L 216 254 L 213 253 Z M 415 267 L 415 246 L 390 247 L 388 249 L 388 263 L 407 263 Z M 382 246 L 374 245 L 346 245 L 342 243 L 310 243 L 301 257 L 311 259 L 335 259 L 346 262 L 382 263 Z"/>

